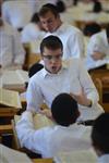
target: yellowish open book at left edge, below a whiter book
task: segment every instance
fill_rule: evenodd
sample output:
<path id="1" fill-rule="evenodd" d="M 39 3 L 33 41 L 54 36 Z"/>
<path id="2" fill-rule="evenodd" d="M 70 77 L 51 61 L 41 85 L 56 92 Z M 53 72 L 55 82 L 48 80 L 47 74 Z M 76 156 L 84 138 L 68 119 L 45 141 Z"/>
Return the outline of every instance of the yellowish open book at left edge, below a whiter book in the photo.
<path id="1" fill-rule="evenodd" d="M 21 109 L 21 100 L 17 91 L 0 88 L 0 106 Z"/>

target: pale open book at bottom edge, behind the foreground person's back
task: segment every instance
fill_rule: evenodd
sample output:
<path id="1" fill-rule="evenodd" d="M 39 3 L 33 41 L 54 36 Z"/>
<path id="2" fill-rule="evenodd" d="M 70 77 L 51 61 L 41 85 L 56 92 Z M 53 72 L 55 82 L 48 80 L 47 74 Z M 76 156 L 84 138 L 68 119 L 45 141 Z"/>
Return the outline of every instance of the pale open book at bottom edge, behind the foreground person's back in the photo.
<path id="1" fill-rule="evenodd" d="M 56 163 L 97 163 L 97 155 L 93 149 L 62 152 L 55 156 Z"/>

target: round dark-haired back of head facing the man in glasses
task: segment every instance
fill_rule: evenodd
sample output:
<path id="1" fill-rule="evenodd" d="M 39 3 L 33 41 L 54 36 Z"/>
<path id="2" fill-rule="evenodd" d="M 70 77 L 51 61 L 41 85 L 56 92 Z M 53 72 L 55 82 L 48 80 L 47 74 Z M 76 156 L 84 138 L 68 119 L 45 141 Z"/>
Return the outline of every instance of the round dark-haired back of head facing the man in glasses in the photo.
<path id="1" fill-rule="evenodd" d="M 62 126 L 69 126 L 78 117 L 76 101 L 69 93 L 60 93 L 51 104 L 51 113 L 55 121 Z"/>

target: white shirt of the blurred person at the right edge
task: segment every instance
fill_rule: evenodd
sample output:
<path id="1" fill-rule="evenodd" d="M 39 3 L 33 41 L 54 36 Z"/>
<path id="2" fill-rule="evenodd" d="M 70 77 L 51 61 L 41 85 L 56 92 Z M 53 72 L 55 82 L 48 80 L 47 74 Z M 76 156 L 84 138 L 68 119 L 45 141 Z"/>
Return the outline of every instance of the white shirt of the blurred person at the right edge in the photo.
<path id="1" fill-rule="evenodd" d="M 92 58 L 94 51 L 105 54 L 102 60 L 95 61 Z M 87 46 L 86 67 L 92 70 L 109 63 L 109 42 L 107 39 L 106 30 L 93 35 Z"/>

